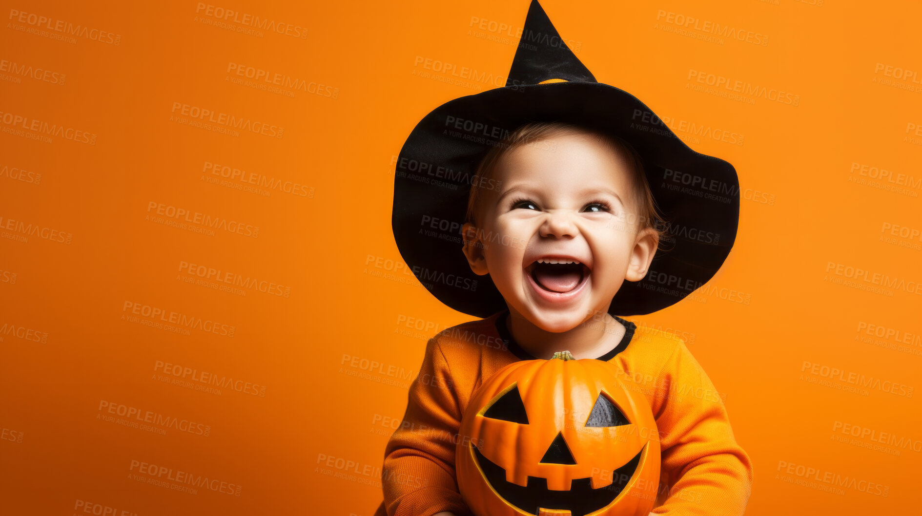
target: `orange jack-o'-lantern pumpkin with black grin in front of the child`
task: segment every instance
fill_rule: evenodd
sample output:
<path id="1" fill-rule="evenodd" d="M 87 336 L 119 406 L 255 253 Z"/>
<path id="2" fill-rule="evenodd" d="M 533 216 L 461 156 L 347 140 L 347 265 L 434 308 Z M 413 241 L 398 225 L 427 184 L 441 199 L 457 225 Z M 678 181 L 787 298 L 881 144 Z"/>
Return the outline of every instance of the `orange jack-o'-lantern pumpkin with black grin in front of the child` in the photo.
<path id="1" fill-rule="evenodd" d="M 487 379 L 455 456 L 468 507 L 478 516 L 647 516 L 659 485 L 656 421 L 619 371 L 562 351 Z"/>

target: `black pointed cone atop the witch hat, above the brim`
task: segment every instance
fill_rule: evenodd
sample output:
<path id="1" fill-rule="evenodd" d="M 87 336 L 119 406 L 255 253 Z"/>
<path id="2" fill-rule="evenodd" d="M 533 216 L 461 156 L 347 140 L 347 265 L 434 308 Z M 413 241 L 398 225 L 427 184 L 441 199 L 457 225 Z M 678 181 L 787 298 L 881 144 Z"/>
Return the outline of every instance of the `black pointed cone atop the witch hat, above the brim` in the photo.
<path id="1" fill-rule="evenodd" d="M 561 39 L 538 0 L 532 0 L 506 86 L 537 85 L 550 79 L 597 82 Z"/>

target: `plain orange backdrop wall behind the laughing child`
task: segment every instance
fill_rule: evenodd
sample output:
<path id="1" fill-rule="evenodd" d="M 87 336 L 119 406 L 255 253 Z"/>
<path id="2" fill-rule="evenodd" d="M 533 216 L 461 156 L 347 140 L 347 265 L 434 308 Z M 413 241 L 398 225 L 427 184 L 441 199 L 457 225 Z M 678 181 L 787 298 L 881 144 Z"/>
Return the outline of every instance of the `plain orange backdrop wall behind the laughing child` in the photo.
<path id="1" fill-rule="evenodd" d="M 49 142 L 35 139 L 41 131 L 30 136 L 0 123 L 3 512 L 70 514 L 98 503 L 116 514 L 370 516 L 381 499 L 375 468 L 391 420 L 403 415 L 426 338 L 470 319 L 401 269 L 390 230 L 393 160 L 431 109 L 496 86 L 453 84 L 425 60 L 498 76 L 502 85 L 516 38 L 499 24 L 520 28 L 527 5 L 213 4 L 306 29 L 299 38 L 248 34 L 232 20 L 230 29 L 218 27 L 219 18 L 196 12 L 191 1 L 3 2 L 0 59 L 65 80 L 2 72 L 0 120 L 9 113 L 96 134 L 95 144 L 64 136 Z M 918 510 L 922 453 L 912 448 L 922 445 L 922 394 L 904 395 L 922 380 L 920 297 L 907 286 L 922 281 L 922 251 L 918 236 L 889 232 L 922 229 L 922 132 L 907 131 L 922 125 L 922 78 L 894 71 L 922 74 L 922 7 L 821 0 L 543 6 L 563 38 L 580 43 L 577 55 L 599 81 L 676 124 L 743 136 L 734 144 L 678 132 L 739 171 L 739 237 L 703 302 L 633 319 L 692 337 L 691 352 L 727 394 L 733 428 L 755 464 L 748 513 Z M 55 40 L 30 30 L 28 18 L 11 19 L 13 11 L 111 32 L 119 44 Z M 691 35 L 678 33 L 668 13 L 768 42 L 705 40 L 708 33 L 693 26 Z M 231 63 L 288 75 L 313 91 L 323 85 L 321 94 L 235 84 Z M 696 91 L 691 71 L 784 90 L 799 96 L 798 106 Z M 284 131 L 274 138 L 192 127 L 171 121 L 175 102 Z M 214 184 L 208 179 L 221 178 L 203 170 L 206 163 L 298 183 L 308 194 L 272 189 L 266 196 L 241 190 L 236 179 Z M 876 172 L 862 174 L 861 165 L 892 170 L 892 180 L 907 183 L 874 183 Z M 14 168 L 32 175 L 19 180 Z M 150 202 L 259 233 L 203 235 L 158 224 L 147 218 L 156 214 Z M 23 235 L 29 230 L 20 222 L 55 236 Z M 58 231 L 72 235 L 69 244 L 56 241 Z M 196 284 L 182 262 L 289 287 L 289 295 L 215 290 Z M 905 282 L 870 292 L 869 281 L 848 277 L 855 275 L 849 267 Z M 219 333 L 233 327 L 233 336 L 175 333 L 145 326 L 144 316 L 132 322 L 123 318 L 131 315 L 126 302 L 218 322 Z M 875 341 L 865 333 L 875 327 L 901 333 Z M 31 339 L 42 332 L 45 342 Z M 164 383 L 158 361 L 251 384 L 244 389 L 265 386 L 265 396 Z M 810 364 L 803 371 L 805 362 L 818 364 L 818 373 Z M 852 392 L 823 367 L 902 390 Z M 210 429 L 204 436 L 132 428 L 107 420 L 100 402 Z M 863 447 L 873 445 L 869 438 L 839 442 L 836 421 L 916 444 L 896 455 Z M 240 486 L 240 496 L 148 484 L 141 463 Z M 778 470 L 782 463 L 879 484 L 887 496 L 798 485 Z"/>

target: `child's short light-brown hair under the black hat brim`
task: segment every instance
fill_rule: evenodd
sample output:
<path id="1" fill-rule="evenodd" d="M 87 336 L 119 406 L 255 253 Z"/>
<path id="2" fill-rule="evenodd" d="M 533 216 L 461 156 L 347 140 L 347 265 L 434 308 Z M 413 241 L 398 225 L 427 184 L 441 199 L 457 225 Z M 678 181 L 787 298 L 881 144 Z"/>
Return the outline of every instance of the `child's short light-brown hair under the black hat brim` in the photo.
<path id="1" fill-rule="evenodd" d="M 552 135 L 564 134 L 585 134 L 594 139 L 597 143 L 602 143 L 617 155 L 626 159 L 631 168 L 631 179 L 634 194 L 634 206 L 637 208 L 637 223 L 641 229 L 652 228 L 656 231 L 657 238 L 664 235 L 663 228 L 665 223 L 663 217 L 656 209 L 656 201 L 653 198 L 653 192 L 650 190 L 650 184 L 644 173 L 644 163 L 640 155 L 631 146 L 617 136 L 606 134 L 604 132 L 593 131 L 583 127 L 561 121 L 539 121 L 526 123 L 514 132 L 510 132 L 501 143 L 490 149 L 487 155 L 483 156 L 477 166 L 474 181 L 470 189 L 470 195 L 467 197 L 467 215 L 465 222 L 477 225 L 476 214 L 480 201 L 479 190 L 483 187 L 478 185 L 493 184 L 492 175 L 502 155 L 522 145 L 534 144 L 538 141 L 547 139 Z"/>

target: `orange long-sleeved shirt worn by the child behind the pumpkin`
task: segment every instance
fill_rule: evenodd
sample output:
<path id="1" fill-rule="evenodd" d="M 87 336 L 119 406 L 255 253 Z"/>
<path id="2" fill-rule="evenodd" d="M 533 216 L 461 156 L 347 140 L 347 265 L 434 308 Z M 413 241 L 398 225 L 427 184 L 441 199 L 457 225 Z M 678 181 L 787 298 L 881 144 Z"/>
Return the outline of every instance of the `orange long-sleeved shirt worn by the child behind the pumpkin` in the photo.
<path id="1" fill-rule="evenodd" d="M 384 452 L 384 502 L 375 516 L 469 514 L 455 482 L 455 446 L 474 391 L 514 361 L 534 357 L 505 326 L 508 312 L 444 330 L 429 340 L 407 413 Z M 599 360 L 632 378 L 653 409 L 662 486 L 656 514 L 737 516 L 746 509 L 752 464 L 727 419 L 723 396 L 680 338 L 627 327 Z"/>

